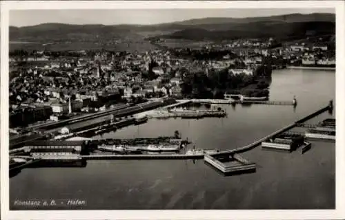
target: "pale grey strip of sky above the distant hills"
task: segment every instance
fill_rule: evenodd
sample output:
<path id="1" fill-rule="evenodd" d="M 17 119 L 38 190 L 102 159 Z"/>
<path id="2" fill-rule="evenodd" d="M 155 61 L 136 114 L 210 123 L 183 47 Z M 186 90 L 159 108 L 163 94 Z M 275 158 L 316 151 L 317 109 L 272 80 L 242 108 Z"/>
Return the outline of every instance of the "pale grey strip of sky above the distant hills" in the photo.
<path id="1" fill-rule="evenodd" d="M 152 25 L 206 17 L 266 17 L 291 13 L 335 13 L 333 8 L 301 9 L 162 9 L 162 10 L 11 10 L 10 25 L 23 27 L 40 23 Z"/>

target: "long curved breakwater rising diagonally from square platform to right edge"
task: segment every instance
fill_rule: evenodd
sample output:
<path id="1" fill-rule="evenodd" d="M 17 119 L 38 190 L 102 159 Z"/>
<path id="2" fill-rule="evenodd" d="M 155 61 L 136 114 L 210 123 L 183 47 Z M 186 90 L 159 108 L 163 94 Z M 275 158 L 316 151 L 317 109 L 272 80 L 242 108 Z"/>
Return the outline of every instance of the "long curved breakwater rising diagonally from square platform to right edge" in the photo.
<path id="1" fill-rule="evenodd" d="M 259 144 L 261 144 L 262 142 L 264 142 L 268 138 L 274 137 L 275 135 L 278 135 L 279 133 L 283 133 L 285 131 L 293 129 L 293 127 L 297 126 L 298 124 L 306 122 L 307 120 L 314 118 L 315 116 L 317 116 L 321 113 L 324 113 L 325 111 L 328 111 L 329 109 L 333 109 L 333 102 L 332 101 L 330 102 L 330 104 L 328 104 L 327 107 L 324 107 L 324 108 L 319 109 L 319 110 L 317 110 L 317 111 L 315 111 L 309 115 L 306 115 L 306 117 L 301 118 L 300 120 L 297 120 L 293 124 L 288 124 L 287 126 L 284 126 L 284 128 L 279 129 L 273 133 L 270 133 L 269 135 L 266 135 L 265 137 L 262 137 L 259 140 L 255 141 L 251 144 L 248 144 L 246 146 L 242 146 L 241 148 L 236 148 L 236 149 L 232 149 L 232 150 L 228 150 L 228 151 L 221 151 L 219 153 L 213 153 L 212 155 L 223 156 L 223 155 L 233 155 L 235 153 L 244 153 L 246 151 L 251 150 L 252 148 L 255 148 L 256 146 L 258 146 Z"/>

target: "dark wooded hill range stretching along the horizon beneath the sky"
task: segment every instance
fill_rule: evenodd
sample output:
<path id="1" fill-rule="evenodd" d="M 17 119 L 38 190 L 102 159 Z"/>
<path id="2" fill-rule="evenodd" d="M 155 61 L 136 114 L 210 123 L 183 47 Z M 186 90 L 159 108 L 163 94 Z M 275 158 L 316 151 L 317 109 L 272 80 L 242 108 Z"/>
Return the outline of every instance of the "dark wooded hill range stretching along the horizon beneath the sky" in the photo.
<path id="1" fill-rule="evenodd" d="M 10 41 L 36 43 L 91 42 L 116 39 L 141 41 L 142 32 L 164 32 L 161 38 L 219 40 L 239 37 L 301 37 L 308 33 L 334 34 L 335 14 L 286 14 L 244 19 L 206 18 L 159 25 L 70 25 L 43 23 L 28 27 L 10 27 Z M 168 34 L 167 34 L 168 33 Z"/>

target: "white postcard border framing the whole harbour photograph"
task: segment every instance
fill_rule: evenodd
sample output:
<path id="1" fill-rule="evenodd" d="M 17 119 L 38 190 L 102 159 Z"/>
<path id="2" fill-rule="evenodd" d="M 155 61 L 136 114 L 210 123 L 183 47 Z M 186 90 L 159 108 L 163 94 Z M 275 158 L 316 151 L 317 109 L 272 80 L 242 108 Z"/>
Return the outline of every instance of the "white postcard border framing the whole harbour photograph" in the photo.
<path id="1" fill-rule="evenodd" d="M 8 15 L 28 9 L 335 8 L 336 210 L 76 210 L 10 211 L 8 177 Z M 3 219 L 344 219 L 345 68 L 343 1 L 1 1 L 1 217 Z M 322 85 L 320 85 L 322 86 Z M 313 183 L 311 183 L 313 184 Z M 308 187 L 308 186 L 306 186 Z"/>

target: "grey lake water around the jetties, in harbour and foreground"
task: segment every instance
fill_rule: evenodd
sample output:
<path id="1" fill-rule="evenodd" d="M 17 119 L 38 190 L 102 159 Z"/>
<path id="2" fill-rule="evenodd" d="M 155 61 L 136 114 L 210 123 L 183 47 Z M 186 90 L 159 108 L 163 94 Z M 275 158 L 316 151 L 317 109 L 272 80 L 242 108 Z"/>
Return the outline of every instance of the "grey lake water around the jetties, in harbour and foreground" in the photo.
<path id="1" fill-rule="evenodd" d="M 103 137 L 157 137 L 178 130 L 197 148 L 237 148 L 335 100 L 335 72 L 274 72 L 270 100 L 292 100 L 294 95 L 296 109 L 229 105 L 224 106 L 228 118 L 150 120 Z M 323 113 L 312 121 L 332 117 Z M 313 142 L 304 155 L 257 147 L 242 156 L 257 163 L 256 173 L 224 177 L 203 160 L 89 161 L 85 168 L 26 168 L 10 179 L 10 208 L 19 208 L 13 205 L 16 199 L 85 199 L 84 209 L 335 208 L 334 143 Z"/>

